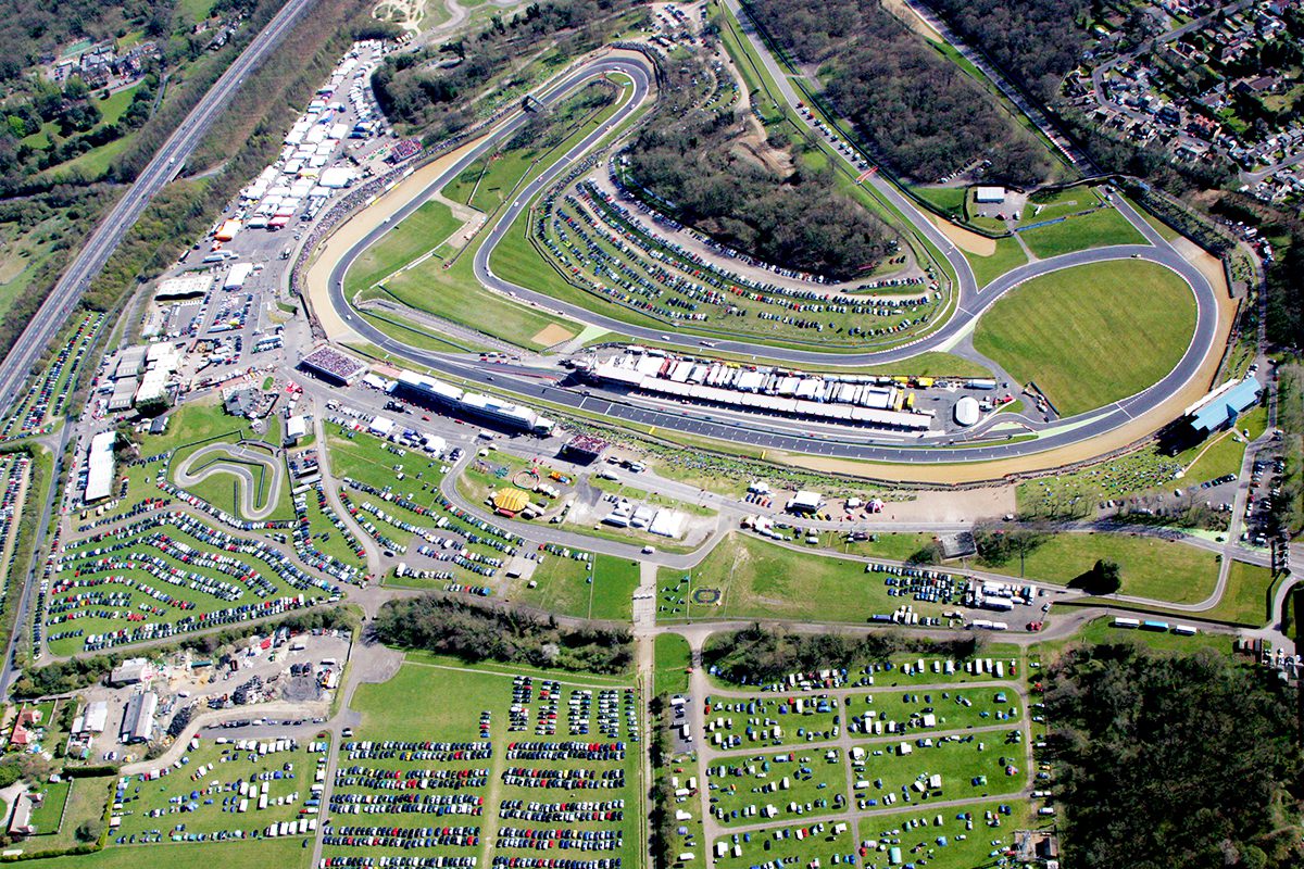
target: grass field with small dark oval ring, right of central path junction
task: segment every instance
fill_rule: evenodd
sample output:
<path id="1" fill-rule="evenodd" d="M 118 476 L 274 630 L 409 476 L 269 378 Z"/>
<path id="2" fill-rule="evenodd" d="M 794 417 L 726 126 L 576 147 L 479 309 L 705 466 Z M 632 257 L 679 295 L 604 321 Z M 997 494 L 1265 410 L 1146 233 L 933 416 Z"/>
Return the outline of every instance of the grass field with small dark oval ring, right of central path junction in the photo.
<path id="1" fill-rule="evenodd" d="M 876 612 L 892 612 L 904 602 L 889 597 L 882 575 L 866 575 L 859 562 L 789 550 L 743 534 L 721 541 L 692 571 L 661 568 L 657 585 L 657 618 L 661 620 L 863 623 Z M 665 589 L 673 590 L 666 593 Z M 696 602 L 694 591 L 698 589 L 719 590 L 720 603 Z M 940 615 L 945 608 L 940 603 L 908 602 L 926 615 Z"/>

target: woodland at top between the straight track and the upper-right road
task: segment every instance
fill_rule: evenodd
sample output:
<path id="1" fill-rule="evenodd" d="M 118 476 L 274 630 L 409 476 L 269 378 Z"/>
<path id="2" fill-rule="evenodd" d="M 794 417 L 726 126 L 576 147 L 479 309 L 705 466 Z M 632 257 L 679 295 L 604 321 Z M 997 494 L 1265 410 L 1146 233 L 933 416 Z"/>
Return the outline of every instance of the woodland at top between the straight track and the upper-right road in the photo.
<path id="1" fill-rule="evenodd" d="M 880 0 L 754 0 L 747 7 L 897 175 L 931 182 L 977 160 L 987 176 L 1031 186 L 1055 175 L 1045 146 L 958 65 L 910 33 Z"/>

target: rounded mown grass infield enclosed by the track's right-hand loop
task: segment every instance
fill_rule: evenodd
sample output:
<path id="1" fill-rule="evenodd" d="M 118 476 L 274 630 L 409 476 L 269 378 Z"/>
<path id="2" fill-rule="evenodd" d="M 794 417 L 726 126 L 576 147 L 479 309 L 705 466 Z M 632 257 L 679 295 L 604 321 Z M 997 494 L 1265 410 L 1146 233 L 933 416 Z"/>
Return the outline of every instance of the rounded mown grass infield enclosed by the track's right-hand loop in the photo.
<path id="1" fill-rule="evenodd" d="M 978 321 L 974 347 L 1020 383 L 1035 382 L 1069 417 L 1163 378 L 1191 343 L 1194 322 L 1194 297 L 1167 268 L 1090 263 L 1012 291 Z"/>

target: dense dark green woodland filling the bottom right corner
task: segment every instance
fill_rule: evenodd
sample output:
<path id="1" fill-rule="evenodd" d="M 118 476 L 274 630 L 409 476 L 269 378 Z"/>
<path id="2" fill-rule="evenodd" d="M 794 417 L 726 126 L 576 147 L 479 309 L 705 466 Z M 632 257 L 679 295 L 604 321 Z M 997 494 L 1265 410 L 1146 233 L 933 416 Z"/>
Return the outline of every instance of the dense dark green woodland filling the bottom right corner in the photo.
<path id="1" fill-rule="evenodd" d="M 1050 670 L 1065 865 L 1299 866 L 1297 691 L 1213 650 L 1081 646 Z"/>

